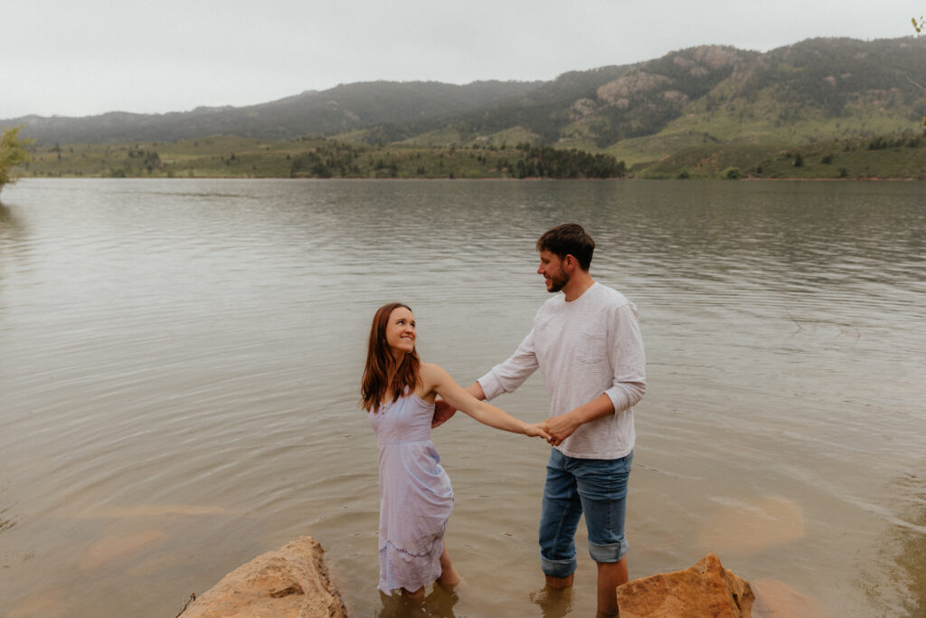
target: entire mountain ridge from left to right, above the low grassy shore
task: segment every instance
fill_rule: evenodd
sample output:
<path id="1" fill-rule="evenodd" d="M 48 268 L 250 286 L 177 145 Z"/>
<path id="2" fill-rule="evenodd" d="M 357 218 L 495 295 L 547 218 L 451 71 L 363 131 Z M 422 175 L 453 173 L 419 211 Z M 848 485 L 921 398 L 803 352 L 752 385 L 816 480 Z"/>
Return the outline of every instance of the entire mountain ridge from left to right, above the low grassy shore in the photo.
<path id="1" fill-rule="evenodd" d="M 807 39 L 757 52 L 701 45 L 549 82 L 355 82 L 247 107 L 127 112 L 24 124 L 39 145 L 131 144 L 208 135 L 360 144 L 531 143 L 628 163 L 711 143 L 807 144 L 918 127 L 926 37 Z"/>

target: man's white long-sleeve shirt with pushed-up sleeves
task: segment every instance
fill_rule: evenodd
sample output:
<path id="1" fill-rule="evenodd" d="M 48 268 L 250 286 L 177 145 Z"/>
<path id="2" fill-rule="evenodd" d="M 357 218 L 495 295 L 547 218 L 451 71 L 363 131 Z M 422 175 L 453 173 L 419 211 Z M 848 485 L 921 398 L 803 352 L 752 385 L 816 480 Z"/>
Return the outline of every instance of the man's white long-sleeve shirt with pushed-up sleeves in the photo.
<path id="1" fill-rule="evenodd" d="M 582 424 L 557 447 L 569 457 L 612 460 L 633 449 L 633 406 L 646 390 L 646 358 L 636 306 L 618 291 L 593 284 L 566 302 L 547 300 L 515 353 L 479 379 L 486 399 L 510 393 L 536 370 L 544 376 L 550 416 L 602 394 L 614 413 Z"/>

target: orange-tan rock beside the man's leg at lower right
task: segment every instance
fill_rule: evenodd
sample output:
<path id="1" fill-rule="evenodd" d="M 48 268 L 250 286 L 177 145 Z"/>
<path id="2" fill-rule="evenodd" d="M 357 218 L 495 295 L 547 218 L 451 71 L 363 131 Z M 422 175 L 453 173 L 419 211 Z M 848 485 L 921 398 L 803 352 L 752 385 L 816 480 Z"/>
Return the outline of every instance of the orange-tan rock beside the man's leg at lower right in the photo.
<path id="1" fill-rule="evenodd" d="M 748 618 L 755 599 L 749 582 L 724 569 L 713 553 L 690 569 L 618 586 L 620 618 Z"/>

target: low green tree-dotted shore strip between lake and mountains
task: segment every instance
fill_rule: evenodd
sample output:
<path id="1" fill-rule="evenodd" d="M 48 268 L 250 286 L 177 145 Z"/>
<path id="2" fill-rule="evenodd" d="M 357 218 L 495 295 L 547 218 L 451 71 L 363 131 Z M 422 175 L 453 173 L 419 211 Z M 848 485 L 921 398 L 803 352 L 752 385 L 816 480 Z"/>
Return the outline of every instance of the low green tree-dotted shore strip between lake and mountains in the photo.
<path id="1" fill-rule="evenodd" d="M 144 144 L 32 145 L 22 177 L 404 180 L 926 180 L 926 139 L 903 133 L 809 145 L 713 144 L 628 165 L 607 151 L 516 145 L 272 142 L 217 135 Z"/>

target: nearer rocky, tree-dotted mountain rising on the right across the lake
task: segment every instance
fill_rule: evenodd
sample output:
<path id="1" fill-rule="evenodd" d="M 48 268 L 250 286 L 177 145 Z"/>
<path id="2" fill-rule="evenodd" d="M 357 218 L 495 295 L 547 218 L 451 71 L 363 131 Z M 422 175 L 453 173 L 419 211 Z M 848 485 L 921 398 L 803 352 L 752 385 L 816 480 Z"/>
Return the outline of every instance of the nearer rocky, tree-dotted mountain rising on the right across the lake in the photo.
<path id="1" fill-rule="evenodd" d="M 410 122 L 343 137 L 466 145 L 515 136 L 638 163 L 707 143 L 808 144 L 912 129 L 926 115 L 912 82 L 926 83 L 926 38 L 814 39 L 766 54 L 702 46 L 567 73 L 440 126 Z"/>

